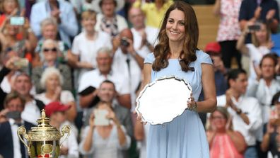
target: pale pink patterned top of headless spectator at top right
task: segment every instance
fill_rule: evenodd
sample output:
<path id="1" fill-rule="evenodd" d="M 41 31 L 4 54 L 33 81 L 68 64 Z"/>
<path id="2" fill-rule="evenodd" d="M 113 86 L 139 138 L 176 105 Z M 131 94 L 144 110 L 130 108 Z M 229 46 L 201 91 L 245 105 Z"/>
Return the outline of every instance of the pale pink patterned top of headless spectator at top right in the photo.
<path id="1" fill-rule="evenodd" d="M 221 0 L 220 24 L 218 26 L 217 41 L 238 40 L 240 26 L 238 22 L 242 0 Z"/>

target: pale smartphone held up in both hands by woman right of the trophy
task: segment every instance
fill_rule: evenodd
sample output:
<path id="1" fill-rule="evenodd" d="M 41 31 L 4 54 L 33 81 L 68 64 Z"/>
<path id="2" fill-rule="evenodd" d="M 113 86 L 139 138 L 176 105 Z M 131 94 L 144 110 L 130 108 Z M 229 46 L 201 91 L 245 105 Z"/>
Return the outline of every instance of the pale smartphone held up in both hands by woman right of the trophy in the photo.
<path id="1" fill-rule="evenodd" d="M 94 111 L 94 124 L 95 125 L 110 125 L 110 120 L 106 117 L 108 111 L 105 109 L 96 109 Z"/>

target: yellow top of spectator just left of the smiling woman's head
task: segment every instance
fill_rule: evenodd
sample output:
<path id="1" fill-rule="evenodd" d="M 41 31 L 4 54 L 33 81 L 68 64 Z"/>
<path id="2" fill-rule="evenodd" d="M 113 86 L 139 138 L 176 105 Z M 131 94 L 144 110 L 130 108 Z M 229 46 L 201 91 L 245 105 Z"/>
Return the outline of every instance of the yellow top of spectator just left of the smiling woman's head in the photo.
<path id="1" fill-rule="evenodd" d="M 146 15 L 146 26 L 160 28 L 165 11 L 168 10 L 171 4 L 173 4 L 173 0 L 166 0 L 166 2 L 163 4 L 163 7 L 158 10 L 155 3 L 146 3 L 141 5 L 141 0 L 136 0 L 133 4 L 133 7 L 141 7 L 141 10 L 144 11 Z"/>

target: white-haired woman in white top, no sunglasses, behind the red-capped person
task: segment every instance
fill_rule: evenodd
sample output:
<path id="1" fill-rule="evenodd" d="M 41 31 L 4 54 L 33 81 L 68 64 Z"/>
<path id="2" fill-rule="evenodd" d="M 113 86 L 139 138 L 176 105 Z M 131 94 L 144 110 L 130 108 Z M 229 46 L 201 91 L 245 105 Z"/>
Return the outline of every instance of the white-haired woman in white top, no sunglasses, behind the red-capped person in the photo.
<path id="1" fill-rule="evenodd" d="M 73 122 L 76 118 L 76 104 L 74 101 L 74 96 L 71 91 L 65 91 L 62 89 L 63 84 L 62 74 L 58 69 L 54 67 L 48 67 L 42 73 L 40 84 L 42 85 L 45 92 L 42 94 L 37 94 L 35 98 L 39 99 L 45 105 L 59 101 L 65 105 L 69 105 L 71 108 L 66 112 L 67 120 Z"/>

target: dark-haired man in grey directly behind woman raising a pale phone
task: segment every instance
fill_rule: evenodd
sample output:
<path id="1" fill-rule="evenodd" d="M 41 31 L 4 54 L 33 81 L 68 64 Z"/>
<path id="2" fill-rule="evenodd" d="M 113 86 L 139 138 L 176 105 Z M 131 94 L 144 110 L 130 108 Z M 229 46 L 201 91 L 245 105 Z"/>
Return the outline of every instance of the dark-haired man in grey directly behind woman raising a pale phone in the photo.
<path id="1" fill-rule="evenodd" d="M 118 104 L 114 103 L 114 99 L 116 96 L 117 91 L 115 90 L 115 84 L 112 81 L 105 80 L 100 84 L 98 90 L 98 98 L 100 101 L 105 101 L 112 106 L 112 111 L 116 114 L 117 119 L 119 119 L 119 123 L 124 125 L 124 128 L 127 130 L 127 134 L 132 137 L 133 136 L 133 128 L 132 128 L 132 118 L 130 116 L 130 111 L 127 108 L 119 106 Z M 86 118 L 84 125 L 88 125 L 88 120 L 93 112 L 94 108 L 88 109 L 86 111 Z"/>

